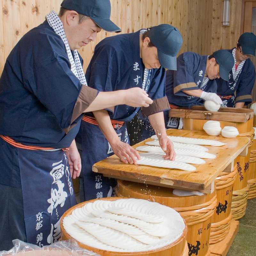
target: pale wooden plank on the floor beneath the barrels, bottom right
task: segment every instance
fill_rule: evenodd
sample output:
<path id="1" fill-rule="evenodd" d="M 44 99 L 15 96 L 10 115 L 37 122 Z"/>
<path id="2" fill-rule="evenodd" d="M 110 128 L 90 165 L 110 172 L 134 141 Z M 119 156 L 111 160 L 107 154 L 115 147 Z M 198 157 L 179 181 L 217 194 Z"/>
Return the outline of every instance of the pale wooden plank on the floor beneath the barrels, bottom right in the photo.
<path id="1" fill-rule="evenodd" d="M 228 232 L 228 235 L 219 243 L 216 244 L 210 244 L 210 256 L 226 256 L 228 253 L 228 250 L 233 243 L 236 234 L 239 230 L 239 221 L 238 220 L 231 220 L 230 224 L 230 230 Z"/>

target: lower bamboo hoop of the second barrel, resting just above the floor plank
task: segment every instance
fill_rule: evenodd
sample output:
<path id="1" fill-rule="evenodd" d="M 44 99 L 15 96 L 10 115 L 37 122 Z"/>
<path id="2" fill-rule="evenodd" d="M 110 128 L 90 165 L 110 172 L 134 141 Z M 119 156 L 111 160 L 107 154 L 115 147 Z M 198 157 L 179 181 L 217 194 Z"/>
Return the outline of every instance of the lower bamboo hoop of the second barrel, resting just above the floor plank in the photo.
<path id="1" fill-rule="evenodd" d="M 212 223 L 209 244 L 216 244 L 222 241 L 223 238 L 227 236 L 230 230 L 231 220 L 232 213 L 230 212 L 228 218 L 217 223 Z"/>

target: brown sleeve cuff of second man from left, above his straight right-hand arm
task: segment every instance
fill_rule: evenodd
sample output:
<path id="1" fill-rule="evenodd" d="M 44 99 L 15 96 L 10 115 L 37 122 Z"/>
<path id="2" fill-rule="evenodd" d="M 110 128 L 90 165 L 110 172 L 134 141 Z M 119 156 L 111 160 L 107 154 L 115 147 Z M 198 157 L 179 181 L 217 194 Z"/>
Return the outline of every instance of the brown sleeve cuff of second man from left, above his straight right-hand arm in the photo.
<path id="1" fill-rule="evenodd" d="M 170 109 L 170 105 L 167 96 L 164 96 L 163 98 L 153 100 L 153 103 L 148 107 L 141 107 L 141 113 L 142 116 L 145 117 L 168 109 Z"/>

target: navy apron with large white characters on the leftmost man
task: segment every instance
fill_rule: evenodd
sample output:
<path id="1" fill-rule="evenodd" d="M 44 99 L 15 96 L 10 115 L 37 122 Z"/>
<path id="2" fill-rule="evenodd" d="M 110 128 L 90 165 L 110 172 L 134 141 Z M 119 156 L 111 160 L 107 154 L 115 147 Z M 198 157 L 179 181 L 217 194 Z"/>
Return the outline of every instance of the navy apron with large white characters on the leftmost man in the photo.
<path id="1" fill-rule="evenodd" d="M 64 151 L 17 148 L 27 242 L 48 245 L 60 238 L 60 217 L 76 205 Z"/>

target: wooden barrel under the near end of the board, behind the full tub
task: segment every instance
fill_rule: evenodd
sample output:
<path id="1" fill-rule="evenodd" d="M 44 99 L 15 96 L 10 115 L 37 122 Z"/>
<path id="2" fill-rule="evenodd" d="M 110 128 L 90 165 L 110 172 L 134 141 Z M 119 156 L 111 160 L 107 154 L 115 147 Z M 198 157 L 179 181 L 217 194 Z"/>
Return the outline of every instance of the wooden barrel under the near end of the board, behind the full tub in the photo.
<path id="1" fill-rule="evenodd" d="M 146 199 L 169 206 L 180 213 L 188 225 L 189 255 L 208 256 L 212 215 L 217 203 L 216 190 L 203 196 L 176 196 L 172 188 L 117 180 L 116 195 Z"/>

